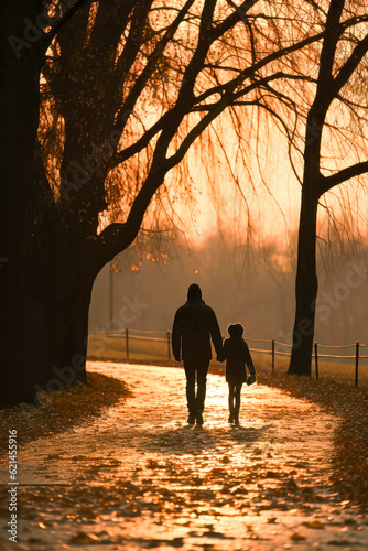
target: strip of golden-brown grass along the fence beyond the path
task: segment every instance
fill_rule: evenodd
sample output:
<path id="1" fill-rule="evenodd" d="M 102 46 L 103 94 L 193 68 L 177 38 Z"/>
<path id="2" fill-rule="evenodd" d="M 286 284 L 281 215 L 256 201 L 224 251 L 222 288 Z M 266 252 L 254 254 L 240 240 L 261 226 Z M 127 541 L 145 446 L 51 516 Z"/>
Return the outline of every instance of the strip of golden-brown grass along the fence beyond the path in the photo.
<path id="1" fill-rule="evenodd" d="M 156 341 L 144 337 L 131 336 L 128 343 L 128 356 L 125 336 L 99 336 L 90 335 L 88 341 L 88 359 L 110 360 L 110 361 L 155 361 L 161 365 L 176 365 L 172 353 L 169 353 L 166 339 Z M 256 369 L 271 372 L 271 354 L 252 353 Z M 286 372 L 289 359 L 286 356 L 275 356 L 274 369 L 277 372 Z M 223 372 L 224 364 L 212 361 L 213 372 Z M 332 377 L 343 380 L 346 383 L 355 383 L 355 359 L 340 360 L 318 360 L 320 378 Z M 315 377 L 315 366 L 313 361 L 312 376 Z M 359 361 L 359 386 L 368 388 L 368 360 Z"/>

